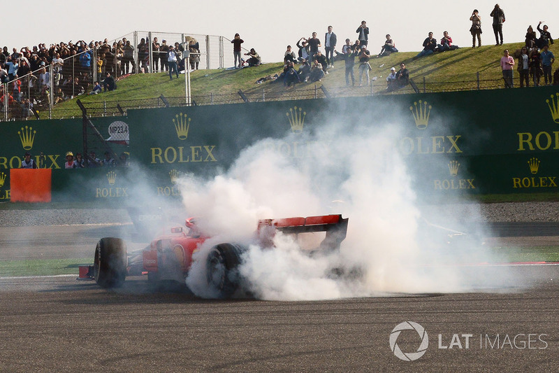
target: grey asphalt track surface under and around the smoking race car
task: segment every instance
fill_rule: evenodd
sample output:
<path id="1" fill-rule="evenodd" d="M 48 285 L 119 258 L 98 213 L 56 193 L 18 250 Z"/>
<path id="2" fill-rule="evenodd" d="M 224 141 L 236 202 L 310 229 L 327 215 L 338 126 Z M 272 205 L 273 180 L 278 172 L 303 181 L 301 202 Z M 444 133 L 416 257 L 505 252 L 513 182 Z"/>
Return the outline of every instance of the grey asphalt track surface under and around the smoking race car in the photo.
<path id="1" fill-rule="evenodd" d="M 99 237 L 127 227 L 30 229 L 22 237 L 20 228 L 0 228 L 0 260 L 87 258 Z M 473 267 L 471 275 L 503 270 Z M 141 277 L 115 291 L 75 276 L 4 277 L 0 372 L 558 372 L 559 266 L 507 271 L 530 281 L 321 302 L 201 300 Z M 411 362 L 389 344 L 404 321 L 428 334 L 426 353 Z M 397 342 L 415 352 L 420 338 L 405 330 Z"/>

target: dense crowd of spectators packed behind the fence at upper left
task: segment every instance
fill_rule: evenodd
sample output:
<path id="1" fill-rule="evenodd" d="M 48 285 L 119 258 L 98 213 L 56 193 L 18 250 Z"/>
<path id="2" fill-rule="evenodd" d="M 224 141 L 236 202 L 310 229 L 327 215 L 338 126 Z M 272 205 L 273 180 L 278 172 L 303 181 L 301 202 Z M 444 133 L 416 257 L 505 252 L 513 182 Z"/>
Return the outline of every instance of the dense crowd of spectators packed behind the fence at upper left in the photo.
<path id="1" fill-rule="evenodd" d="M 191 69 L 198 69 L 200 62 L 199 45 L 193 38 L 186 43 L 175 43 L 178 53 L 179 70 L 184 70 L 184 60 L 180 53 L 187 48 L 190 52 Z M 168 70 L 167 41 L 152 41 L 152 63 L 154 71 Z M 119 76 L 136 72 L 136 59 L 140 71 L 149 72 L 150 45 L 144 38 L 136 46 L 129 40 L 115 41 L 61 41 L 46 45 L 39 43 L 33 48 L 13 48 L 4 46 L 0 52 L 1 104 L 8 100 L 10 116 L 22 118 L 31 115 L 33 108 L 57 104 L 80 94 L 97 94 L 115 90 Z M 50 92 L 52 87 L 52 92 Z M 7 92 L 5 92 L 7 90 Z"/>

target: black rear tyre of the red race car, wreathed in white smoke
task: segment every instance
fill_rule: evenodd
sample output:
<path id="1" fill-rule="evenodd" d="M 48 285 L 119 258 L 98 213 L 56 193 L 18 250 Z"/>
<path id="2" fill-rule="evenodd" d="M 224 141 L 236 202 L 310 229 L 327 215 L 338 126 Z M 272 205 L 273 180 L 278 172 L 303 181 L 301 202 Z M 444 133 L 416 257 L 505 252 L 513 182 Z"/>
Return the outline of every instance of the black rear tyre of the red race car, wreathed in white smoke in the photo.
<path id="1" fill-rule="evenodd" d="M 238 265 L 242 248 L 234 244 L 219 244 L 208 254 L 206 279 L 208 287 L 219 298 L 229 298 L 240 286 Z"/>

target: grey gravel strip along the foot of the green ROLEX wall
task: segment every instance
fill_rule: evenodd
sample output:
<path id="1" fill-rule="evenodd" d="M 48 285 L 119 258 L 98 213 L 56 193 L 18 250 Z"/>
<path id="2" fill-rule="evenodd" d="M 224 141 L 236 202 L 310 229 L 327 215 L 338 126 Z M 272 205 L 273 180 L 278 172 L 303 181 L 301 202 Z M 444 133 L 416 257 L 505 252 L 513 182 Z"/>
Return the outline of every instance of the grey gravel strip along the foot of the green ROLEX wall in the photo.
<path id="1" fill-rule="evenodd" d="M 475 222 L 559 222 L 559 202 L 421 206 L 424 216 Z M 433 219 L 432 219 L 433 220 Z M 0 210 L 0 227 L 131 223 L 126 209 Z"/>

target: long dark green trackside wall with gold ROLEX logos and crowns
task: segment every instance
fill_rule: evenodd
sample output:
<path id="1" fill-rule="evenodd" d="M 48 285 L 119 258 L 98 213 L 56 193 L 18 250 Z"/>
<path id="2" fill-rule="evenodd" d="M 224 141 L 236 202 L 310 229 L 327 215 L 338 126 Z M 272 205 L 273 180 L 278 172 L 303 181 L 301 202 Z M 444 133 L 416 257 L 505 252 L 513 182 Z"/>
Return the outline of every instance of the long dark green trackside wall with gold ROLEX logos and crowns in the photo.
<path id="1" fill-rule="evenodd" d="M 126 202 L 138 193 L 178 197 L 177 178 L 212 176 L 242 149 L 275 139 L 278 154 L 335 157 L 328 125 L 397 129 L 401 155 L 416 190 L 426 195 L 558 190 L 559 93 L 556 87 L 433 94 L 272 101 L 129 110 L 126 117 L 3 122 L 0 201 L 10 199 L 9 170 L 29 151 L 52 169 L 52 199 Z M 321 134 L 321 143 L 310 139 Z M 326 137 L 325 137 L 326 136 Z M 65 154 L 96 150 L 101 160 L 129 157 L 131 167 L 65 169 Z M 135 167 L 138 166 L 138 167 Z M 133 171 L 132 171 L 133 170 Z M 141 187 L 140 187 L 141 185 Z M 149 186 L 146 186 L 149 185 Z M 142 188 L 142 190 L 140 190 Z"/>

